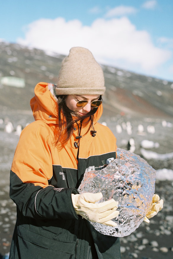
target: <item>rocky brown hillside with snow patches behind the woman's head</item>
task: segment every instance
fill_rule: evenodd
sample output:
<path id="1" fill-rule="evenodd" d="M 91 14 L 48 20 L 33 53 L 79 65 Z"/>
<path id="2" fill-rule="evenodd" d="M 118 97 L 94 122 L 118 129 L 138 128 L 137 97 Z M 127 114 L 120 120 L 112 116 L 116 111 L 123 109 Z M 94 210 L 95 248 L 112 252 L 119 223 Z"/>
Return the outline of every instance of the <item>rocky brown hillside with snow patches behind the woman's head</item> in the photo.
<path id="1" fill-rule="evenodd" d="M 56 83 L 63 55 L 28 49 L 18 44 L 0 42 L 0 108 L 30 110 L 34 86 L 38 82 Z M 173 84 L 166 80 L 138 75 L 102 65 L 106 93 L 103 116 L 116 115 L 169 118 L 173 116 Z M 10 76 L 23 78 L 25 87 L 2 83 Z"/>

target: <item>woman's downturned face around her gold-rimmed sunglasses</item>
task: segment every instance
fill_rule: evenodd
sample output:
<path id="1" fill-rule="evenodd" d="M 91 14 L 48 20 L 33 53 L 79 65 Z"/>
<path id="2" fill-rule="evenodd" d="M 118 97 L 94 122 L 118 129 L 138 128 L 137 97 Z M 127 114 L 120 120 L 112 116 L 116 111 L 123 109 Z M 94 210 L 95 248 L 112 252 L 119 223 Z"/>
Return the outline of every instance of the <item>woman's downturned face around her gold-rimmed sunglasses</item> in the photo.
<path id="1" fill-rule="evenodd" d="M 95 101 L 95 100 L 98 100 L 100 97 L 100 95 L 91 95 L 91 94 L 82 94 L 82 95 L 76 95 L 76 94 L 73 94 L 72 95 L 68 95 L 66 100 L 65 100 L 65 104 L 66 106 L 79 114 L 79 116 L 83 116 L 83 115 L 86 115 L 88 112 L 90 112 L 90 110 L 92 109 L 95 109 L 95 108 L 91 108 L 91 104 L 88 103 L 86 104 L 84 107 L 76 107 L 76 100 L 80 101 L 80 100 L 87 100 L 88 102 L 92 102 L 92 101 Z M 76 100 L 75 100 L 75 99 Z"/>

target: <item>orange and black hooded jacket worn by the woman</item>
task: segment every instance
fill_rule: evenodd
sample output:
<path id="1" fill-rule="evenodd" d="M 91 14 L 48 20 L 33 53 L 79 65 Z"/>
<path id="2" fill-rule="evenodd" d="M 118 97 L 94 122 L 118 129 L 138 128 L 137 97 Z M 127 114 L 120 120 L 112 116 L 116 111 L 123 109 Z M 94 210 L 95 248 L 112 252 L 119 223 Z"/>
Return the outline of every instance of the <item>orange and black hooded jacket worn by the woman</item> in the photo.
<path id="1" fill-rule="evenodd" d="M 56 145 L 57 100 L 54 86 L 39 83 L 31 99 L 35 121 L 21 133 L 10 173 L 10 197 L 17 205 L 17 222 L 9 258 L 120 258 L 119 239 L 98 233 L 75 213 L 71 194 L 77 194 L 85 169 L 116 158 L 116 138 L 98 123 L 102 105 L 66 144 Z M 77 158 L 78 156 L 78 158 Z"/>

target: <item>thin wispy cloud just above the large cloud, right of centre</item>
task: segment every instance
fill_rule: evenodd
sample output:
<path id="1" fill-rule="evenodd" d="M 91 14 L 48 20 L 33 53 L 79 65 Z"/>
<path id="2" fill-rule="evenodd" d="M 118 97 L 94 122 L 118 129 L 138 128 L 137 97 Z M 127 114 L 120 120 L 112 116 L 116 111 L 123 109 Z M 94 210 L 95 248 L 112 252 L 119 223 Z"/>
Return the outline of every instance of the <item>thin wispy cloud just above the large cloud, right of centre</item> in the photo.
<path id="1" fill-rule="evenodd" d="M 118 7 L 110 9 L 105 14 L 105 17 L 124 16 L 124 15 L 134 14 L 136 12 L 137 12 L 137 9 L 134 7 L 120 5 Z"/>

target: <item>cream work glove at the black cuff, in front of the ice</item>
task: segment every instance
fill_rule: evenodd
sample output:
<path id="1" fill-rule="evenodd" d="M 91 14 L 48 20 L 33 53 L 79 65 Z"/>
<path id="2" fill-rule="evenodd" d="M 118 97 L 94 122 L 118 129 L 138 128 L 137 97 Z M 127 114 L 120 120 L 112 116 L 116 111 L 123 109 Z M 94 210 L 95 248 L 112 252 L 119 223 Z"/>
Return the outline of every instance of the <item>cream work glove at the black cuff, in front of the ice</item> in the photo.
<path id="1" fill-rule="evenodd" d="M 82 193 L 71 194 L 73 207 L 76 214 L 91 221 L 102 223 L 107 226 L 116 226 L 117 224 L 111 219 L 116 218 L 119 214 L 117 209 L 117 202 L 113 199 L 95 203 L 103 197 L 101 192 L 98 193 Z"/>

